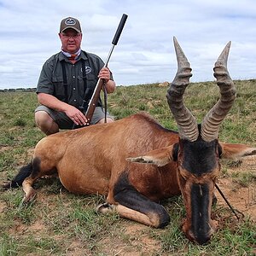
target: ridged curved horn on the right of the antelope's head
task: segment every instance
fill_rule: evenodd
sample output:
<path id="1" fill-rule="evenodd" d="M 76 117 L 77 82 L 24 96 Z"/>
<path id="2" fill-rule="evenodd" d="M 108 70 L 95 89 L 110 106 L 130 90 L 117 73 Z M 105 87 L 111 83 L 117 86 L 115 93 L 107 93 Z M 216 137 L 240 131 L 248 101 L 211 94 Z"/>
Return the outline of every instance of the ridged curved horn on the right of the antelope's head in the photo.
<path id="1" fill-rule="evenodd" d="M 227 113 L 229 113 L 236 98 L 236 88 L 227 69 L 230 45 L 231 42 L 225 46 L 213 68 L 214 77 L 217 79 L 221 96 L 218 102 L 207 113 L 201 124 L 201 137 L 206 142 L 211 142 L 218 138 L 219 125 Z"/>

